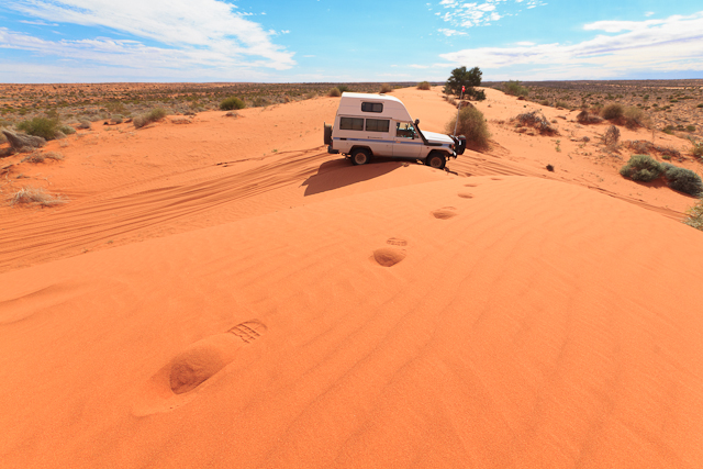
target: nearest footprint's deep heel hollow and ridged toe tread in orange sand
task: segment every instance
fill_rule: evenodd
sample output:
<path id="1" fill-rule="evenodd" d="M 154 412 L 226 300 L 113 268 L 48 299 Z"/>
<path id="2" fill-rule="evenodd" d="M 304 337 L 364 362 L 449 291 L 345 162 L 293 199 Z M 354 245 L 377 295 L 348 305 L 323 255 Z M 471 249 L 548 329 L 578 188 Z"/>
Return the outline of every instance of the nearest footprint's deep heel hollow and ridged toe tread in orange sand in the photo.
<path id="1" fill-rule="evenodd" d="M 266 332 L 259 321 L 237 324 L 224 334 L 191 344 L 171 360 L 169 384 L 175 394 L 192 391 L 234 360 L 237 348 Z"/>

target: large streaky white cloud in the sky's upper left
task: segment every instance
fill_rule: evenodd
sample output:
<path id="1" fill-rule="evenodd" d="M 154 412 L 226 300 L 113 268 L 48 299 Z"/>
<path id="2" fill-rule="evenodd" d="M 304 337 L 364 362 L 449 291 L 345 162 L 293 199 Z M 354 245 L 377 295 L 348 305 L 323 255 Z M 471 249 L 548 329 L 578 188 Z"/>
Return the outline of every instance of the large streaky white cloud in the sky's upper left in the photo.
<path id="1" fill-rule="evenodd" d="M 221 0 L 10 0 L 10 8 L 41 20 L 83 26 L 102 26 L 140 40 L 149 40 L 165 47 L 147 47 L 133 41 L 89 38 L 83 41 L 43 44 L 47 49 L 33 47 L 42 40 L 3 30 L 0 47 L 22 48 L 70 56 L 80 52 L 83 57 L 96 56 L 99 63 L 118 65 L 119 58 L 135 62 L 145 56 L 183 59 L 182 65 L 216 64 L 287 69 L 295 62 L 293 54 L 271 42 L 274 34 L 260 24 L 238 13 L 236 7 Z M 9 42 L 9 37 L 13 37 Z M 104 58 L 104 47 L 111 44 Z M 51 51 L 51 53 L 49 53 Z M 116 60 L 116 62 L 115 62 Z M 144 66 L 149 64 L 143 63 Z M 178 67 L 178 64 L 172 64 Z"/>

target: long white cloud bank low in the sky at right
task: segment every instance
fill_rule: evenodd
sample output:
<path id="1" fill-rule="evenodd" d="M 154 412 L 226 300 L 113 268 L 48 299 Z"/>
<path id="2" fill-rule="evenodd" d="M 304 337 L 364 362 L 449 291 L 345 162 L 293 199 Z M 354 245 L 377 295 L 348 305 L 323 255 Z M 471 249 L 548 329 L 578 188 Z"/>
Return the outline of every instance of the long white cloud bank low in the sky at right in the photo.
<path id="1" fill-rule="evenodd" d="M 589 77 L 618 76 L 633 70 L 703 70 L 703 12 L 643 22 L 601 21 L 583 29 L 626 32 L 596 35 L 578 44 L 481 47 L 440 57 L 455 65 L 479 65 L 489 69 L 524 65 L 543 71 L 545 66 L 570 68 L 571 72 L 590 70 Z M 577 77 L 579 75 L 568 78 Z"/>

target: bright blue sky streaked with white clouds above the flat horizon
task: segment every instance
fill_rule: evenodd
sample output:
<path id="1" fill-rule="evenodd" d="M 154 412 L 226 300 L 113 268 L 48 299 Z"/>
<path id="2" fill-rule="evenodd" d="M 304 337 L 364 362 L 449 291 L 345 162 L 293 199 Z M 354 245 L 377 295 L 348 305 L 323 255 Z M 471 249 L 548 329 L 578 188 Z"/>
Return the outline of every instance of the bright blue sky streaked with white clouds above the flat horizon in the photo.
<path id="1" fill-rule="evenodd" d="M 703 78 L 701 0 L 2 0 L 0 81 Z"/>

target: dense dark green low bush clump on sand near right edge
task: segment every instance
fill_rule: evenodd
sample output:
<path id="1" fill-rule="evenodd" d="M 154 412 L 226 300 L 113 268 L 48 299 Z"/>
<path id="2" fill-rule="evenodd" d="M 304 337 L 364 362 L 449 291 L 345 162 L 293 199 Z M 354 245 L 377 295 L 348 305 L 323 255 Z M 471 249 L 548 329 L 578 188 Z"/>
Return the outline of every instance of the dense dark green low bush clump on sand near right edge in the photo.
<path id="1" fill-rule="evenodd" d="M 673 190 L 690 196 L 703 193 L 703 181 L 699 175 L 669 163 L 659 163 L 647 155 L 633 155 L 629 161 L 621 168 L 620 174 L 625 178 L 641 182 L 650 182 L 663 176 L 667 186 Z"/>

